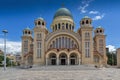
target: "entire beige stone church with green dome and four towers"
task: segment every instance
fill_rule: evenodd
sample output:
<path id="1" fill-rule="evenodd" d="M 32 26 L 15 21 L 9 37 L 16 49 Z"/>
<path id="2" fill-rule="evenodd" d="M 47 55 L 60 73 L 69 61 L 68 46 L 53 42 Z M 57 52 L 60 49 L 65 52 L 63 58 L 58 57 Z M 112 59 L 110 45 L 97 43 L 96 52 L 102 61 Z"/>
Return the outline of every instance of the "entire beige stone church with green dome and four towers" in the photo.
<path id="1" fill-rule="evenodd" d="M 36 19 L 34 29 L 23 30 L 21 65 L 106 66 L 104 29 L 93 29 L 92 19 L 87 16 L 79 23 L 79 29 L 75 31 L 73 16 L 67 8 L 59 8 L 55 12 L 49 26 L 51 32 L 47 30 L 43 18 Z"/>

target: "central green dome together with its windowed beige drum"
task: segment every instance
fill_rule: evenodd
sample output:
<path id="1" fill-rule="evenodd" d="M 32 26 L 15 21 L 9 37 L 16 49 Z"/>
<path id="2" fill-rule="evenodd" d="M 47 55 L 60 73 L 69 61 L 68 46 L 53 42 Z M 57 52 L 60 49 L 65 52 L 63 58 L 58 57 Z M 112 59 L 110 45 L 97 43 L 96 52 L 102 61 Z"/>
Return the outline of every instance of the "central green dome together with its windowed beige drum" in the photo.
<path id="1" fill-rule="evenodd" d="M 74 30 L 74 21 L 71 12 L 67 8 L 56 11 L 51 28 L 56 30 Z"/>

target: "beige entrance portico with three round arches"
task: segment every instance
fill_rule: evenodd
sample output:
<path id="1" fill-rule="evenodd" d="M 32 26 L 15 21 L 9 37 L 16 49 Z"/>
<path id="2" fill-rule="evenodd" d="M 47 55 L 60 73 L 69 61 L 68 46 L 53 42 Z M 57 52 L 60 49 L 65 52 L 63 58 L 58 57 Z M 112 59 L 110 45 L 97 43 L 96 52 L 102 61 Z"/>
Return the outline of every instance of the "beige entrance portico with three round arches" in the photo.
<path id="1" fill-rule="evenodd" d="M 77 51 L 50 51 L 46 54 L 46 65 L 80 65 L 81 57 Z"/>

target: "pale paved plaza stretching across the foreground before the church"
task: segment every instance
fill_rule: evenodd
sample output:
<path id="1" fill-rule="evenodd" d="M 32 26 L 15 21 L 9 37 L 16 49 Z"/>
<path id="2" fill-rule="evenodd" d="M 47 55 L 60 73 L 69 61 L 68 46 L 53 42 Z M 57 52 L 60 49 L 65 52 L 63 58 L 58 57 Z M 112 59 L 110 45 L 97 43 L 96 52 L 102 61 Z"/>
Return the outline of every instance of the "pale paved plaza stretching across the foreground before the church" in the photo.
<path id="1" fill-rule="evenodd" d="M 0 68 L 0 80 L 120 80 L 120 69 L 84 66 Z"/>

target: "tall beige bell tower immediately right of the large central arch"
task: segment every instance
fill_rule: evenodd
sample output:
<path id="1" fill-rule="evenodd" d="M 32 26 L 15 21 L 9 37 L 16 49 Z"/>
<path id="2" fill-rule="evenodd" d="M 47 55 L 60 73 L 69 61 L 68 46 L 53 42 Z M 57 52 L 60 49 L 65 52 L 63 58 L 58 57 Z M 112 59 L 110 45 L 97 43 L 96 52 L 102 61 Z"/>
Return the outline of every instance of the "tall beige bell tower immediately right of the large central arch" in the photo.
<path id="1" fill-rule="evenodd" d="M 93 64 L 93 27 L 92 20 L 85 16 L 80 21 L 79 34 L 81 36 L 82 64 Z"/>

